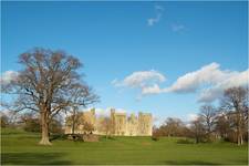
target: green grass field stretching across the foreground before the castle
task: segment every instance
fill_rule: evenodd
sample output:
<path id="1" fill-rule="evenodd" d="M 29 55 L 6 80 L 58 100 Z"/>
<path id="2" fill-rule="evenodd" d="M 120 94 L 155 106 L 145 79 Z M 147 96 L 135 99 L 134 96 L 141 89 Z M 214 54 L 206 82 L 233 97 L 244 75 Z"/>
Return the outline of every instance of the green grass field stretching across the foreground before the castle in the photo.
<path id="1" fill-rule="evenodd" d="M 40 146 L 39 134 L 1 131 L 1 164 L 248 164 L 247 145 L 231 143 L 186 144 L 180 138 L 114 137 L 97 143 L 54 139 Z"/>

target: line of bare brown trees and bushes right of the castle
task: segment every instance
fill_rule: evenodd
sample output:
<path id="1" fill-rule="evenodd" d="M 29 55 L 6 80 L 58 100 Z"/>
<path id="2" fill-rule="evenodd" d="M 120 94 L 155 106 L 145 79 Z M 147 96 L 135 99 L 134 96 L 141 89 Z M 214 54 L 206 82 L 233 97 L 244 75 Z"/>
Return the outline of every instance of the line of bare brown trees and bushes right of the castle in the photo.
<path id="1" fill-rule="evenodd" d="M 201 105 L 196 120 L 185 124 L 168 117 L 163 125 L 154 127 L 153 136 L 179 136 L 195 138 L 196 143 L 225 139 L 242 145 L 248 142 L 248 89 L 230 87 L 224 91 L 219 104 Z"/>

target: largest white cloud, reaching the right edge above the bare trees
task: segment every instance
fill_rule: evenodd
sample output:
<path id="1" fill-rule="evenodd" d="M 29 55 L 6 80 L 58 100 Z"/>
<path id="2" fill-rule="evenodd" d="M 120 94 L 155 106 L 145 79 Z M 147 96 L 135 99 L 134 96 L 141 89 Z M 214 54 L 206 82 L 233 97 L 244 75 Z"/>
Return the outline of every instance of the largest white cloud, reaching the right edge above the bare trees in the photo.
<path id="1" fill-rule="evenodd" d="M 212 102 L 225 89 L 248 84 L 248 70 L 243 72 L 220 70 L 218 63 L 210 63 L 200 70 L 180 77 L 166 92 L 193 93 L 200 91 L 198 102 Z"/>

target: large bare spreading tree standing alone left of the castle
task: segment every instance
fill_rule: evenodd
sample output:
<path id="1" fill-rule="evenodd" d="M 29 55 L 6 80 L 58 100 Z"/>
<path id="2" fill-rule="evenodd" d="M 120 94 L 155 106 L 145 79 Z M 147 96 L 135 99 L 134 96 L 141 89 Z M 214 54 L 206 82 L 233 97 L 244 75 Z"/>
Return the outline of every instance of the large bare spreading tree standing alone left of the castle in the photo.
<path id="1" fill-rule="evenodd" d="M 51 145 L 49 125 L 62 111 L 86 106 L 97 96 L 82 82 L 79 69 L 82 63 L 63 51 L 33 49 L 19 56 L 23 70 L 2 92 L 15 95 L 9 110 L 38 112 L 41 121 L 40 144 Z M 12 96 L 13 97 L 13 96 Z"/>

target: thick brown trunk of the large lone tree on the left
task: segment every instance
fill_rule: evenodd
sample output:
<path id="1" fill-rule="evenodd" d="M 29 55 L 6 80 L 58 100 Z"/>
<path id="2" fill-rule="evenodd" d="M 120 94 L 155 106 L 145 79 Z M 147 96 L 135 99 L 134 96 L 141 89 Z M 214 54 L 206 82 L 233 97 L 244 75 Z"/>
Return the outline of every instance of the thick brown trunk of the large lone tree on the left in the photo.
<path id="1" fill-rule="evenodd" d="M 46 114 L 41 114 L 41 126 L 42 126 L 42 138 L 40 141 L 40 145 L 52 145 L 49 138 L 49 123 L 46 120 Z"/>

